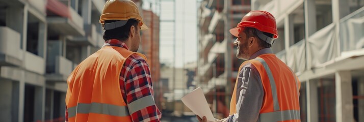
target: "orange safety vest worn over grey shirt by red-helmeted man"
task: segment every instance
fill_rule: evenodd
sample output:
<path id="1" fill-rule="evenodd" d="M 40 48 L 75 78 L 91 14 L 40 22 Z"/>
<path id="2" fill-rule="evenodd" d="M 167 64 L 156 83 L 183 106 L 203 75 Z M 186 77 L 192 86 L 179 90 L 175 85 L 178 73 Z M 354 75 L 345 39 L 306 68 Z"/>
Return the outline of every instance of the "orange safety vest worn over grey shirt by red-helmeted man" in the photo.
<path id="1" fill-rule="evenodd" d="M 261 76 L 264 98 L 259 119 L 261 121 L 300 121 L 299 88 L 300 82 L 292 70 L 274 54 L 259 55 L 245 61 L 251 63 Z M 239 77 L 239 76 L 238 76 Z M 230 101 L 230 115 L 237 113 L 237 82 Z"/>

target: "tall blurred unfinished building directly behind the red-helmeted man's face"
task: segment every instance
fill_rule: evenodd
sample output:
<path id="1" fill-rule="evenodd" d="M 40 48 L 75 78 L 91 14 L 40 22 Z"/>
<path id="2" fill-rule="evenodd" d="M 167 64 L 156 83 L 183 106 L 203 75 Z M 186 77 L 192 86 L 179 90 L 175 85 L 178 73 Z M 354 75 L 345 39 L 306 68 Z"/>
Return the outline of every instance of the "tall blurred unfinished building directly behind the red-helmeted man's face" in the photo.
<path id="1" fill-rule="evenodd" d="M 236 58 L 236 27 L 250 11 L 250 1 L 205 0 L 198 9 L 199 43 L 197 84 L 205 92 L 216 117 L 228 115 L 231 93 L 243 60 Z"/>

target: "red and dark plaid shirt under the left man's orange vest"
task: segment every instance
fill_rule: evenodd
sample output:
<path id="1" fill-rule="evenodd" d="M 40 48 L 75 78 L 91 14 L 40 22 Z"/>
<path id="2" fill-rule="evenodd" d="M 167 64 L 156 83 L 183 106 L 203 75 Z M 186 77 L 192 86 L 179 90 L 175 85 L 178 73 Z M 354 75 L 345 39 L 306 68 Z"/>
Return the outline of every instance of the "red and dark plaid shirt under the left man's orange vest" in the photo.
<path id="1" fill-rule="evenodd" d="M 119 40 L 105 41 L 103 46 L 118 46 L 128 50 L 127 45 Z M 129 111 L 132 110 L 130 115 L 133 121 L 161 121 L 162 114 L 154 103 L 152 79 L 145 59 L 138 54 L 126 58 L 119 82 L 121 95 L 128 104 Z M 150 103 L 150 106 L 136 104 L 140 102 Z M 67 108 L 65 119 L 68 121 Z"/>

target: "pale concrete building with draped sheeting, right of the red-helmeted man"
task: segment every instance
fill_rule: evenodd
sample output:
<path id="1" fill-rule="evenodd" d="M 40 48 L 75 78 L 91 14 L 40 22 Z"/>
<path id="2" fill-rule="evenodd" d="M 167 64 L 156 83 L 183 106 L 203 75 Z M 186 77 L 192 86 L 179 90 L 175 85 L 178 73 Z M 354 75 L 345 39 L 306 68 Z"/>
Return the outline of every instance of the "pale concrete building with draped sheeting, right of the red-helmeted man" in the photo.
<path id="1" fill-rule="evenodd" d="M 256 0 L 252 10 L 276 17 L 273 50 L 301 81 L 302 121 L 364 121 L 364 1 Z"/>

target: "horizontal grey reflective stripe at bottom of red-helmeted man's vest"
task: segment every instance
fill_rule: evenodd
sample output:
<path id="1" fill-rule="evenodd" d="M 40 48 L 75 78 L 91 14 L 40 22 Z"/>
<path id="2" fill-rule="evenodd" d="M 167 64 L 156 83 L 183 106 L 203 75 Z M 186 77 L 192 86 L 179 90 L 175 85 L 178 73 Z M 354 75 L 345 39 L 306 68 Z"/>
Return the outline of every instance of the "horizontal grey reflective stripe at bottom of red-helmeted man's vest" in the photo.
<path id="1" fill-rule="evenodd" d="M 279 117 L 280 116 L 280 117 Z M 259 114 L 261 121 L 285 121 L 301 119 L 300 110 L 283 110 Z"/>

